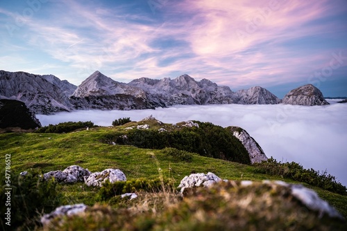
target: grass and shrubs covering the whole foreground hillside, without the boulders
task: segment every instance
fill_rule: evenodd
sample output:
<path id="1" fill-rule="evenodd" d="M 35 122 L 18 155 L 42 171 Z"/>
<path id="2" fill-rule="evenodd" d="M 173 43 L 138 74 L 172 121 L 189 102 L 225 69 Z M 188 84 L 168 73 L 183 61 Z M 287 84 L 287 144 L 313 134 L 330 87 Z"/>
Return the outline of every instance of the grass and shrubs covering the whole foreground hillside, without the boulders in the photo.
<path id="1" fill-rule="evenodd" d="M 325 216 L 321 219 L 319 214 L 308 213 L 307 209 L 303 210 L 303 205 L 293 204 L 291 198 L 280 202 L 278 196 L 286 195 L 281 188 L 276 192 L 269 191 L 268 194 L 262 186 L 245 192 L 237 190 L 235 185 L 220 185 L 215 190 L 201 190 L 181 198 L 176 193 L 176 187 L 184 176 L 192 173 L 213 172 L 223 179 L 235 181 L 304 182 L 303 185 L 314 189 L 347 218 L 346 188 L 344 192 L 337 193 L 324 190 L 321 185 L 317 187 L 314 182 L 309 185 L 307 183 L 310 182 L 305 183 L 303 177 L 291 177 L 293 172 L 285 172 L 287 166 L 283 167 L 273 160 L 266 165 L 249 165 L 244 158 L 239 159 L 239 162 L 244 163 L 232 162 L 226 158 L 226 154 L 230 154 L 226 147 L 230 144 L 228 139 L 232 139 L 224 133 L 226 130 L 209 123 L 196 123 L 198 127 L 185 127 L 184 123 L 160 124 L 157 120 L 150 120 L 128 122 L 117 127 L 83 128 L 71 133 L 0 134 L 0 154 L 11 156 L 11 180 L 16 189 L 13 193 L 21 198 L 12 205 L 13 214 L 17 214 L 12 217 L 12 224 L 15 225 L 12 228 L 17 225 L 17 228 L 23 230 L 42 229 L 39 221 L 43 213 L 51 212 L 59 205 L 73 203 L 85 203 L 90 205 L 90 209 L 84 216 L 75 216 L 63 222 L 53 221 L 53 226 L 45 227 L 44 230 L 216 230 L 240 229 L 246 227 L 244 225 L 249 225 L 249 229 L 270 227 L 269 230 L 346 228 L 346 223 L 341 221 Z M 144 124 L 149 124 L 150 129 L 136 129 Z M 159 132 L 161 128 L 165 131 Z M 215 140 L 217 137 L 221 140 Z M 236 148 L 232 149 L 230 158 L 244 155 L 244 150 L 237 146 L 236 140 L 233 145 Z M 204 149 L 208 150 L 208 154 L 203 155 Z M 84 183 L 61 184 L 42 181 L 40 178 L 44 172 L 63 170 L 70 165 L 79 165 L 91 172 L 101 172 L 108 168 L 121 169 L 127 181 L 95 188 L 87 187 Z M 278 171 L 269 171 L 274 165 Z M 0 167 L 5 169 L 5 161 L 0 163 Z M 295 167 L 301 169 L 297 165 Z M 29 172 L 25 184 L 19 177 L 22 171 Z M 5 179 L 1 178 L 1 181 Z M 1 196 L 3 190 L 4 187 L 1 188 Z M 137 192 L 139 197 L 130 201 L 118 196 L 124 192 Z M 259 197 L 258 200 L 263 192 L 265 197 Z M 244 210 L 242 203 L 231 203 L 244 200 L 242 195 L 257 198 L 248 204 L 247 210 Z M 223 198 L 229 198 L 229 201 L 233 199 L 226 204 Z M 271 203 L 269 207 L 269 199 L 266 198 L 271 198 L 274 206 Z M 266 205 L 269 209 L 264 210 L 258 205 Z M 230 218 L 232 222 L 227 222 Z M 3 219 L 1 225 L 6 228 Z"/>

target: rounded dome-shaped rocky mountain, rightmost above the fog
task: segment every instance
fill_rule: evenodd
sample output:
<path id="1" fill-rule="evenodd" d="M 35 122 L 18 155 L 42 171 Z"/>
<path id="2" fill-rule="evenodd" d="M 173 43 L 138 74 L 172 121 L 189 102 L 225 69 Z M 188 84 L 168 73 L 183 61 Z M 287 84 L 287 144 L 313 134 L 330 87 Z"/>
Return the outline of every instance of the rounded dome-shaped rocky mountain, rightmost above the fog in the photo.
<path id="1" fill-rule="evenodd" d="M 292 105 L 328 105 L 329 103 L 323 98 L 323 94 L 312 84 L 300 86 L 289 91 L 282 100 L 283 104 Z"/>

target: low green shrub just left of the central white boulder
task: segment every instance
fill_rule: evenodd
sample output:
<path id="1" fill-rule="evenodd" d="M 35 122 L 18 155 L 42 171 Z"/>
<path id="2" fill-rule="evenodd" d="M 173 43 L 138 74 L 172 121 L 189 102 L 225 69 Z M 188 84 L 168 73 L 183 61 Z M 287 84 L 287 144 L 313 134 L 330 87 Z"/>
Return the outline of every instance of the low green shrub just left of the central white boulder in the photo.
<path id="1" fill-rule="evenodd" d="M 117 181 L 115 183 L 106 182 L 99 190 L 98 197 L 102 201 L 108 200 L 113 196 L 125 194 L 128 192 L 162 192 L 164 190 L 173 190 L 174 183 L 169 179 L 146 179 L 138 178 L 130 181 Z"/>

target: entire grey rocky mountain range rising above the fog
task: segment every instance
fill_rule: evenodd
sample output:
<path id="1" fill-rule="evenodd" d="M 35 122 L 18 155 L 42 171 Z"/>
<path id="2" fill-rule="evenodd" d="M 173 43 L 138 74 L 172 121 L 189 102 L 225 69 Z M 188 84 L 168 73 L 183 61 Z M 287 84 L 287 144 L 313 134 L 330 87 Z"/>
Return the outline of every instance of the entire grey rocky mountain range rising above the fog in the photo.
<path id="1" fill-rule="evenodd" d="M 171 80 L 142 77 L 128 84 L 117 82 L 95 71 L 79 86 L 54 75 L 0 71 L 0 98 L 20 100 L 40 114 L 75 109 L 155 109 L 175 104 L 280 104 L 270 91 L 254 86 L 231 91 L 210 80 L 196 81 L 189 75 Z M 290 91 L 285 104 L 325 105 L 323 94 L 311 84 Z"/>

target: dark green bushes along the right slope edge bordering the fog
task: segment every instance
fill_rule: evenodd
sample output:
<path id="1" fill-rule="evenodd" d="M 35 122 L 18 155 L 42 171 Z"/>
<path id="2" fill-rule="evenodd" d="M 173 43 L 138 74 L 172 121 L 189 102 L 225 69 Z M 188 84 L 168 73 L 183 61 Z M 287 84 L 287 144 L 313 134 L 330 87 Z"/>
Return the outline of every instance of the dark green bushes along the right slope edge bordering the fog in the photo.
<path id="1" fill-rule="evenodd" d="M 321 187 L 330 192 L 347 195 L 347 188 L 337 182 L 335 176 L 331 176 L 326 171 L 319 172 L 314 169 L 304 169 L 298 163 L 281 163 L 272 157 L 262 163 L 255 163 L 254 166 L 256 171 L 260 173 L 291 178 L 295 181 Z"/>

